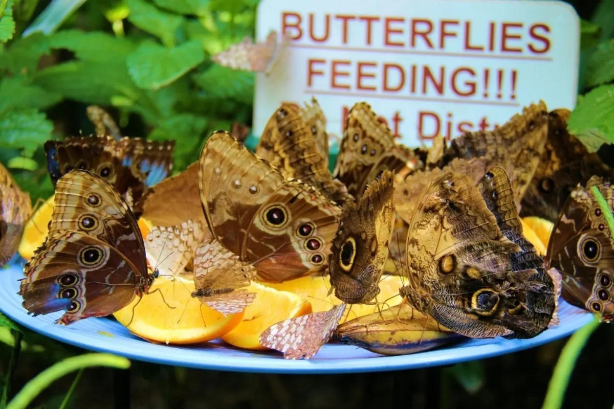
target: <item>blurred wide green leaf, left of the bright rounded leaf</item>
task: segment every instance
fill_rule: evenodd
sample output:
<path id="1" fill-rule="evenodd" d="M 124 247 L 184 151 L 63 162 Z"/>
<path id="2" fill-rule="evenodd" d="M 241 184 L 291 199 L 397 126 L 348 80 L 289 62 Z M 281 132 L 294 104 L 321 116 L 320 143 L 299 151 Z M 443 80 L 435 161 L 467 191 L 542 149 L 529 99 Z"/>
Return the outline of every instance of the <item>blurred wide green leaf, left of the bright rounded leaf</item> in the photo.
<path id="1" fill-rule="evenodd" d="M 66 48 L 78 59 L 106 63 L 109 60 L 125 59 L 136 50 L 130 39 L 119 38 L 102 31 L 81 31 L 77 29 L 58 31 L 49 37 L 52 48 Z"/>

